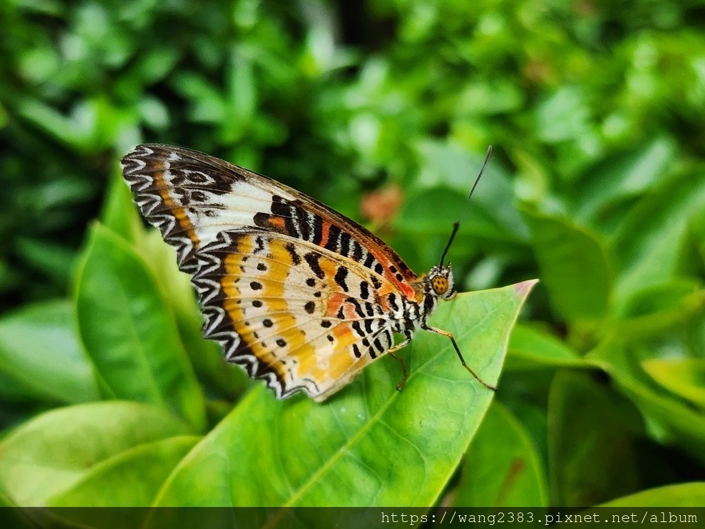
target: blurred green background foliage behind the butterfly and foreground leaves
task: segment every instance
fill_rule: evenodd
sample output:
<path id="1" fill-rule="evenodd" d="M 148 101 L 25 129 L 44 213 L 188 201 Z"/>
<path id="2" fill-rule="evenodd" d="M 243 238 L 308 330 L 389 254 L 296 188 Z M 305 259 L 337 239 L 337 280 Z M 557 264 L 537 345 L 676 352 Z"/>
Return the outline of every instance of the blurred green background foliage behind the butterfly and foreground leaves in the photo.
<path id="1" fill-rule="evenodd" d="M 483 425 L 446 503 L 589 505 L 703 480 L 700 1 L 10 0 L 0 10 L 6 432 L 109 398 L 83 352 L 77 256 L 92 219 L 130 231 L 117 162 L 158 141 L 314 195 L 417 272 L 462 218 L 451 259 L 463 290 L 541 279 L 486 421 L 515 432 L 505 454 L 534 479 L 503 481 L 516 466 L 492 452 L 496 430 Z M 172 302 L 192 303 L 184 292 Z M 180 314 L 188 350 L 198 318 Z M 200 432 L 245 384 L 216 360 L 191 358 L 205 396 L 183 389 L 207 401 L 207 419 L 202 403 L 191 411 Z M 487 451 L 496 457 L 474 456 Z"/>

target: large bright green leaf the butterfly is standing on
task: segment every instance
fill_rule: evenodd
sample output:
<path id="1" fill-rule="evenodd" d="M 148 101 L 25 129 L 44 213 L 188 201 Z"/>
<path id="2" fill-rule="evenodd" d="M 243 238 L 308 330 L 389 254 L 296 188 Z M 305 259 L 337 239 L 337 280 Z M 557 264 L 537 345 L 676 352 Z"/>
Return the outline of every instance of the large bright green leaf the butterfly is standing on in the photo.
<path id="1" fill-rule="evenodd" d="M 462 294 L 434 318 L 489 382 L 498 378 L 533 285 Z M 394 389 L 400 372 L 391 358 L 323 404 L 303 396 L 276 401 L 261 385 L 253 389 L 180 463 L 156 504 L 434 504 L 494 394 L 462 369 L 443 336 L 419 332 L 411 349 L 402 392 Z"/>

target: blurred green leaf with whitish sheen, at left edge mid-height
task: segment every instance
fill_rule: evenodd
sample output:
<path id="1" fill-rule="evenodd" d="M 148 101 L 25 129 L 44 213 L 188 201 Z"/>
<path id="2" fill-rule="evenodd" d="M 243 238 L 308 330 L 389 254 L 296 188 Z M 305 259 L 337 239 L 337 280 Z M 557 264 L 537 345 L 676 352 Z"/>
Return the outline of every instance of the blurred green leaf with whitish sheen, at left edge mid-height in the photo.
<path id="1" fill-rule="evenodd" d="M 99 398 L 68 300 L 25 306 L 0 319 L 0 374 L 16 386 L 4 399 L 79 403 Z"/>

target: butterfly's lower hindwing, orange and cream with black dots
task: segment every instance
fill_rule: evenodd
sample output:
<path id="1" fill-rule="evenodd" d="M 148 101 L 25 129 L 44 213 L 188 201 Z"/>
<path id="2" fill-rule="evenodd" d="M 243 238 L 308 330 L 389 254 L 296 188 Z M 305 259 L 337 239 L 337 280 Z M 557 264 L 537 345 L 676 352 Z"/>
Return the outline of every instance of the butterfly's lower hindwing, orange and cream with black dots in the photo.
<path id="1" fill-rule="evenodd" d="M 278 398 L 322 401 L 375 358 L 393 334 L 384 277 L 308 241 L 226 230 L 195 253 L 204 335 Z"/>

